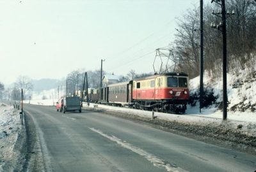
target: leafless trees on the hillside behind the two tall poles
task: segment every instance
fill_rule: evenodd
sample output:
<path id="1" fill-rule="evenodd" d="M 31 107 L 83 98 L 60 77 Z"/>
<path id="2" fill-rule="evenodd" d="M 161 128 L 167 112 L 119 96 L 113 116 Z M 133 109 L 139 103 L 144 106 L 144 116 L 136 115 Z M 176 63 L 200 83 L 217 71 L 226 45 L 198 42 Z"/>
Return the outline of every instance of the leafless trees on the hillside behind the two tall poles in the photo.
<path id="1" fill-rule="evenodd" d="M 227 0 L 226 9 L 235 15 L 227 18 L 227 59 L 228 72 L 238 74 L 248 69 L 256 70 L 256 3 L 252 0 Z M 211 28 L 211 23 L 220 24 L 221 18 L 212 15 L 212 10 L 220 10 L 216 4 L 204 6 L 204 69 L 209 74 L 221 76 L 222 33 Z M 188 73 L 191 78 L 199 73 L 199 8 L 187 10 L 178 20 L 173 49 L 177 69 Z"/>

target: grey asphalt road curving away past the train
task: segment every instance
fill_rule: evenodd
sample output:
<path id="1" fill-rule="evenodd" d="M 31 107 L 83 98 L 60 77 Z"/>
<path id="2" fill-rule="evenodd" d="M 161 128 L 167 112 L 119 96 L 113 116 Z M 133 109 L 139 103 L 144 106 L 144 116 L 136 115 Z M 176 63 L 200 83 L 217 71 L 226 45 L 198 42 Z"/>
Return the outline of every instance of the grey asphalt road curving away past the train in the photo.
<path id="1" fill-rule="evenodd" d="M 25 104 L 47 171 L 255 171 L 256 156 L 124 118 Z"/>

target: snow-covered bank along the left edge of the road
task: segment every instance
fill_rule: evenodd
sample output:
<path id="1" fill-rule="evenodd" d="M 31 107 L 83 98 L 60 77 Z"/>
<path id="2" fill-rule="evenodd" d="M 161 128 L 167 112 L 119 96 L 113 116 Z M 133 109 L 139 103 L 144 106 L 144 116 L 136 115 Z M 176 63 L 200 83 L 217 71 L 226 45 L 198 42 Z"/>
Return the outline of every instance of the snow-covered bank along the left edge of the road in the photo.
<path id="1" fill-rule="evenodd" d="M 15 159 L 19 157 L 19 150 L 15 150 L 15 143 L 22 126 L 20 124 L 19 110 L 7 104 L 0 103 L 0 171 L 13 170 Z M 11 170 L 11 171 L 12 171 Z"/>

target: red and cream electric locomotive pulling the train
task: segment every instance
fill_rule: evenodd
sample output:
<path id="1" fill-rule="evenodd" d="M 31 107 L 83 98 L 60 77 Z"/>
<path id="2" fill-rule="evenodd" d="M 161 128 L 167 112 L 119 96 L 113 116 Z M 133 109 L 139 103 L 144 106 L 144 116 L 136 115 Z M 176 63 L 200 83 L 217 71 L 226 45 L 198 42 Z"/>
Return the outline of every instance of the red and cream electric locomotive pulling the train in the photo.
<path id="1" fill-rule="evenodd" d="M 133 80 L 132 102 L 136 108 L 184 113 L 189 99 L 188 75 L 164 73 Z"/>

